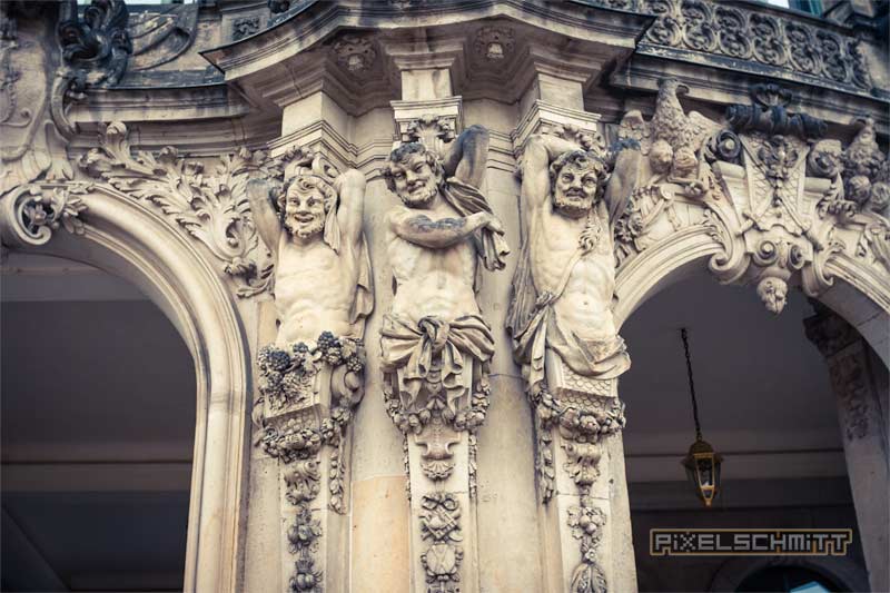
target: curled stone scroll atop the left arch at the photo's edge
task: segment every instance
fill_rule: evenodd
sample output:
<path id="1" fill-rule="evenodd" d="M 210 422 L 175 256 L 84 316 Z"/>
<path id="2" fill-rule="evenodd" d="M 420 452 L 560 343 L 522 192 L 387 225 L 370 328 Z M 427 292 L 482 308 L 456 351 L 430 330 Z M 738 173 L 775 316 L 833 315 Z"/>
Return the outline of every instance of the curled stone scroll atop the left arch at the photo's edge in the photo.
<path id="1" fill-rule="evenodd" d="M 0 200 L 0 231 L 7 246 L 40 246 L 63 228 L 72 235 L 86 229 L 81 214 L 87 210 L 81 196 L 90 186 L 19 186 Z"/>

